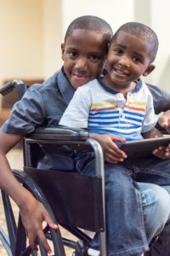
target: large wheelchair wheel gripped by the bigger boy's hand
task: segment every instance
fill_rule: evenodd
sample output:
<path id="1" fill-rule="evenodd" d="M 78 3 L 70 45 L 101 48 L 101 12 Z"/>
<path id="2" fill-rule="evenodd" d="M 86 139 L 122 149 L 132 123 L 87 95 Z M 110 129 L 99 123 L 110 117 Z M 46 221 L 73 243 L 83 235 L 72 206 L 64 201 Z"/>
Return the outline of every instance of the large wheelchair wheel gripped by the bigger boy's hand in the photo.
<path id="1" fill-rule="evenodd" d="M 14 171 L 14 176 L 18 181 L 26 187 L 31 193 L 41 201 L 44 207 L 47 208 L 50 216 L 54 219 L 54 213 L 48 204 L 42 190 L 37 186 L 31 177 L 25 172 Z M 3 230 L 0 230 L 0 240 L 2 241 L 3 247 L 5 248 L 8 256 L 46 256 L 48 253 L 45 252 L 42 247 L 42 242 L 37 239 L 38 252 L 33 252 L 31 247 L 27 244 L 26 231 L 21 222 L 20 212 L 16 211 L 17 207 L 14 207 L 14 201 L 12 201 L 8 194 L 2 190 L 3 208 L 6 218 L 6 225 L 8 230 L 8 236 L 5 235 Z M 15 212 L 14 212 L 15 211 Z M 44 227 L 44 233 L 49 241 L 50 247 L 53 250 L 51 255 L 65 256 L 65 249 L 60 235 L 59 230 L 53 230 L 46 225 Z"/>

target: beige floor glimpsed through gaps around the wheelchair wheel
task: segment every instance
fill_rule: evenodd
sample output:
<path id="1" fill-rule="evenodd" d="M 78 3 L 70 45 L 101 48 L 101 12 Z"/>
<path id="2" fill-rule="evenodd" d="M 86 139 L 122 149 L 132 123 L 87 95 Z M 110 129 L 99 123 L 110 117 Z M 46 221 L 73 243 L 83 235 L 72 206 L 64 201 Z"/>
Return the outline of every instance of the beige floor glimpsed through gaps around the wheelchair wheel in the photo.
<path id="1" fill-rule="evenodd" d="M 23 158 L 22 158 L 22 151 L 20 149 L 13 149 L 8 153 L 8 160 L 13 169 L 19 169 L 22 170 L 23 166 Z M 18 208 L 14 204 L 14 211 L 18 212 Z M 0 196 L 0 227 L 3 228 L 3 230 L 6 230 L 6 224 L 5 224 L 5 217 L 3 214 L 3 204 L 2 204 L 2 198 Z M 61 233 L 67 237 L 74 239 L 73 236 L 70 236 L 65 230 L 62 230 Z M 72 255 L 72 250 L 69 248 L 66 248 L 66 256 Z M 0 256 L 7 256 L 8 254 L 4 251 L 3 246 L 0 241 Z"/>

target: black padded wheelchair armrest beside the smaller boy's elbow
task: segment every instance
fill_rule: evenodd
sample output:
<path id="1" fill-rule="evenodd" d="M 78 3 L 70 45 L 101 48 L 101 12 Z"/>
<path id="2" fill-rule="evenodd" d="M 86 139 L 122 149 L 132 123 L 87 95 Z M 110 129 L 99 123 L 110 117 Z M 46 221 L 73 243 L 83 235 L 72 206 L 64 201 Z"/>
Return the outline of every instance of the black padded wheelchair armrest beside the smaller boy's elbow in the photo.
<path id="1" fill-rule="evenodd" d="M 88 131 L 67 126 L 40 127 L 26 137 L 36 140 L 86 141 Z"/>

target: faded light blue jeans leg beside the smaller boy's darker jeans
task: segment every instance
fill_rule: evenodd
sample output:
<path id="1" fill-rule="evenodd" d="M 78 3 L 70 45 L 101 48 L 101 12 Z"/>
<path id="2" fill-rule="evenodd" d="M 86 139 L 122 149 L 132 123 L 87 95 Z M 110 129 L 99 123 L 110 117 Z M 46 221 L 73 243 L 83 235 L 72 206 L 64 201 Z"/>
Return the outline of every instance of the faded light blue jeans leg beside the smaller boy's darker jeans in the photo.
<path id="1" fill-rule="evenodd" d="M 170 219 L 170 186 L 138 183 L 144 214 L 144 227 L 148 243 L 163 230 Z M 167 190 L 167 191 L 166 191 Z"/>

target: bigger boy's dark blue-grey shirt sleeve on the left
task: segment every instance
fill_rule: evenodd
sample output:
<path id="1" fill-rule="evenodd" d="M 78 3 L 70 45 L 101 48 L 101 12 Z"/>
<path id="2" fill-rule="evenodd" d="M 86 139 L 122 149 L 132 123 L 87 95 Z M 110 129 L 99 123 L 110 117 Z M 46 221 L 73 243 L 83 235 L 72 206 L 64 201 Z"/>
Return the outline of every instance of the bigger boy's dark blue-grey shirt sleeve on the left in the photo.
<path id="1" fill-rule="evenodd" d="M 42 94 L 37 88 L 29 88 L 14 108 L 1 130 L 11 134 L 28 134 L 43 125 L 45 108 Z"/>

